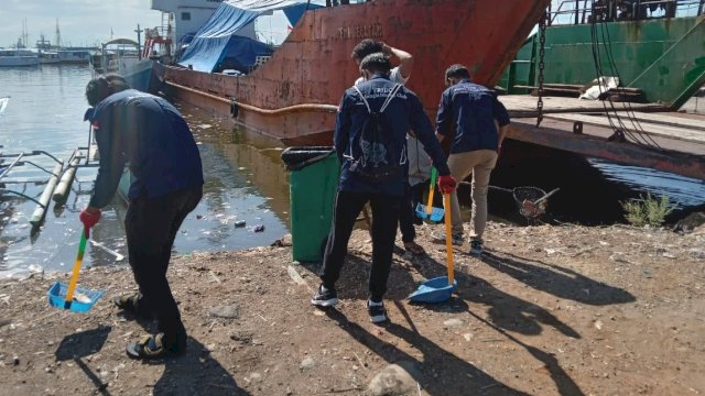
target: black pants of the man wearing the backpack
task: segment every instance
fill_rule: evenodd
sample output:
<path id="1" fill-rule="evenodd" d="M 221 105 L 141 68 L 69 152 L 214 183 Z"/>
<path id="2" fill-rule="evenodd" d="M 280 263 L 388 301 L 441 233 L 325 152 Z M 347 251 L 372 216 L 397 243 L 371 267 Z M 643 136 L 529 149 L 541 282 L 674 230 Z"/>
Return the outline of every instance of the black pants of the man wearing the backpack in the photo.
<path id="1" fill-rule="evenodd" d="M 348 252 L 348 241 L 355 220 L 368 201 L 372 207 L 372 265 L 369 290 L 372 300 L 380 301 L 387 292 L 387 278 L 392 265 L 401 204 L 399 197 L 386 194 L 338 191 L 335 198 L 332 231 L 318 275 L 324 286 L 328 288 L 335 286 Z"/>

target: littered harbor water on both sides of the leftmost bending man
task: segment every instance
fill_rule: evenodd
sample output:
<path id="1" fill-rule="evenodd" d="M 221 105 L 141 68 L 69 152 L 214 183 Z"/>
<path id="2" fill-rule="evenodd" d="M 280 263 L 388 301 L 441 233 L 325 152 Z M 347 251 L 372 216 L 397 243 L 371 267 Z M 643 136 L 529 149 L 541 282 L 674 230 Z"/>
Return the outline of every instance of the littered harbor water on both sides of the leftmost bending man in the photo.
<path id="1" fill-rule="evenodd" d="M 84 66 L 44 65 L 37 68 L 0 69 L 0 97 L 10 97 L 0 116 L 0 144 L 6 164 L 12 154 L 42 150 L 66 161 L 88 141 L 84 97 L 91 74 Z M 288 232 L 289 183 L 281 163 L 281 146 L 208 118 L 181 109 L 189 122 L 205 170 L 204 198 L 187 217 L 174 252 L 239 250 L 269 245 Z M 46 156 L 25 157 L 47 168 Z M 50 204 L 43 227 L 33 233 L 29 223 L 36 204 L 10 195 L 0 196 L 0 276 L 33 271 L 70 271 L 82 224 L 78 212 L 88 204 L 96 168 L 79 168 L 67 202 Z M 31 165 L 14 168 L 3 180 L 46 180 L 47 174 Z M 39 199 L 44 185 L 7 183 L 6 189 Z M 118 197 L 105 208 L 91 238 L 127 255 L 122 219 L 127 205 Z M 235 223 L 245 221 L 245 227 Z M 259 226 L 259 227 L 258 227 Z M 254 228 L 262 231 L 254 232 Z M 127 265 L 88 245 L 85 266 Z"/>

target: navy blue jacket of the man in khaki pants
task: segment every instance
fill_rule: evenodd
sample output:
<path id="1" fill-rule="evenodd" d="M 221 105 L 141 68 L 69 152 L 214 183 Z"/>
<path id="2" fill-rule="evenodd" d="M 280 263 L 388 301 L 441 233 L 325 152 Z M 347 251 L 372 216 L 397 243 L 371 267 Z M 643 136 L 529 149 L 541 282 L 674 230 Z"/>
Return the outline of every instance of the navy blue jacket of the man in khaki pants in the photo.
<path id="1" fill-rule="evenodd" d="M 447 136 L 456 128 L 451 153 L 497 150 L 495 120 L 499 127 L 509 124 L 509 113 L 497 100 L 497 94 L 466 79 L 447 88 L 441 96 L 436 132 Z"/>

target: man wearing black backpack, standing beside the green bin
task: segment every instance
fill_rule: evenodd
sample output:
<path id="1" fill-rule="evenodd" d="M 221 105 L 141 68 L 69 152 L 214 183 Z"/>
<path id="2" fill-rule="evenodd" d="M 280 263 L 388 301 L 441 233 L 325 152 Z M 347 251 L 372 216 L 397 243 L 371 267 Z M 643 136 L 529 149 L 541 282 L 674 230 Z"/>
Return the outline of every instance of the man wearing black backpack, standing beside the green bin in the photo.
<path id="1" fill-rule="evenodd" d="M 322 284 L 311 304 L 337 304 L 335 283 L 347 254 L 355 220 L 362 206 L 372 208 L 372 266 L 367 308 L 372 322 L 387 320 L 382 297 L 392 262 L 401 197 L 408 183 L 406 132 L 411 129 L 438 169 L 442 191 L 455 190 L 433 127 L 414 92 L 389 80 L 390 62 L 382 53 L 366 56 L 360 73 L 366 81 L 345 91 L 335 127 L 335 150 L 340 160 L 340 183 L 335 200 L 333 231 L 319 276 Z"/>

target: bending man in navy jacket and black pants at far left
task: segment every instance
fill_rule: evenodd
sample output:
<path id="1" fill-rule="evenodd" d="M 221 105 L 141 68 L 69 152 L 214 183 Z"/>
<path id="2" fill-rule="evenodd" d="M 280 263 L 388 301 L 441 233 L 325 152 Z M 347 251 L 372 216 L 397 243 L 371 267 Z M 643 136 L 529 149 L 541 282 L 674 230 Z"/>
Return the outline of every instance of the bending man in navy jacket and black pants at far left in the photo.
<path id="1" fill-rule="evenodd" d="M 86 86 L 87 112 L 95 130 L 100 167 L 88 207 L 80 212 L 85 232 L 100 219 L 126 164 L 132 183 L 124 219 L 128 253 L 139 293 L 116 298 L 133 315 L 159 321 L 160 333 L 128 344 L 135 359 L 182 354 L 186 329 L 166 280 L 176 232 L 203 195 L 203 168 L 188 125 L 166 100 L 130 89 L 119 75 L 101 75 Z"/>

